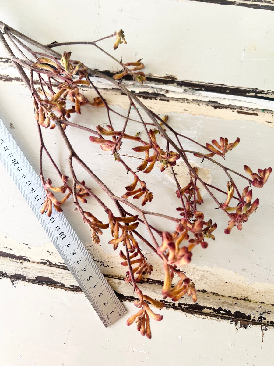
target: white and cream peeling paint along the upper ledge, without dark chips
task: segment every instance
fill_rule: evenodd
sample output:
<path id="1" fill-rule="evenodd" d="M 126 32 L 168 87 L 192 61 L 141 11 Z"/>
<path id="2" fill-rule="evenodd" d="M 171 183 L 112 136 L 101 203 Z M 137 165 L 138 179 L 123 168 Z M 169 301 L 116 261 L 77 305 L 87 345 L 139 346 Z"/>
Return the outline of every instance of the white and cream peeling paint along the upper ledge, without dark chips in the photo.
<path id="1" fill-rule="evenodd" d="M 7 68 L 7 64 L 1 63 L 1 60 L 0 73 L 8 74 L 11 77 L 18 77 L 17 71 L 12 67 Z M 117 92 L 112 84 L 104 81 L 103 79 L 98 81 L 98 78 L 91 78 L 91 80 L 94 85 L 99 88 L 99 90 L 104 91 L 106 96 L 111 93 L 111 101 L 108 97 L 106 98 L 110 105 L 118 105 L 123 109 L 127 108 L 127 97 L 121 96 L 121 94 Z M 137 93 L 137 95 L 138 93 L 155 93 L 155 88 L 153 88 L 155 85 L 154 83 L 144 83 L 144 85 L 138 85 L 131 81 L 124 81 L 123 83 L 126 87 L 128 87 L 129 90 Z M 5 84 L 7 84 L 7 82 L 5 82 Z M 88 98 L 93 98 L 95 96 L 92 88 L 85 87 L 82 88 L 82 90 L 85 96 Z M 144 100 L 147 107 L 151 108 L 156 113 L 191 113 L 193 115 L 219 117 L 226 120 L 255 119 L 257 123 L 262 123 L 269 127 L 273 127 L 274 125 L 272 112 L 274 110 L 274 102 L 270 100 L 230 96 L 229 94 L 224 95 L 208 91 L 197 91 L 190 88 L 185 89 L 184 87 L 161 85 L 160 83 L 157 85 L 156 92 L 159 94 L 159 96 L 164 95 L 167 97 L 167 100 L 165 101 L 163 98 L 160 98 L 160 102 L 153 100 L 153 98 L 152 100 L 148 100 L 147 98 Z M 264 97 L 264 95 L 262 96 Z M 209 101 L 215 102 L 217 106 L 220 105 L 220 108 L 215 108 L 216 105 L 208 104 Z M 227 106 L 227 108 L 221 107 L 222 105 Z M 229 107 L 233 108 L 229 109 Z M 251 113 L 251 115 L 248 115 L 248 113 L 239 113 L 241 111 L 247 111 L 248 113 Z M 252 115 L 254 112 L 256 113 L 255 117 Z"/>

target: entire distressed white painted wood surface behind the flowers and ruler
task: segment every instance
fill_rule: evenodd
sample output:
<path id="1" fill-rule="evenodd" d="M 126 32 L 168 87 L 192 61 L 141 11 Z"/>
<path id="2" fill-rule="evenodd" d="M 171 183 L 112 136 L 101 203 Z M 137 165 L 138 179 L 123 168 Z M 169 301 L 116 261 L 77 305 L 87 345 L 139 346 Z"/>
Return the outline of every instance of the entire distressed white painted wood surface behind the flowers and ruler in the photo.
<path id="1" fill-rule="evenodd" d="M 175 75 L 179 80 L 205 84 L 210 82 L 262 89 L 268 93 L 268 98 L 270 94 L 267 90 L 274 89 L 272 11 L 201 1 L 163 0 L 157 1 L 157 4 L 155 1 L 83 1 L 83 13 L 78 6 L 73 8 L 75 4 L 70 0 L 66 6 L 47 0 L 45 7 L 35 2 L 36 7 L 27 11 L 33 4 L 31 0 L 23 3 L 2 0 L 1 20 L 45 43 L 94 40 L 122 27 L 128 45 L 121 45 L 117 51 L 111 52 L 119 55 L 118 58 L 123 56 L 125 62 L 144 57 L 146 73 L 154 76 Z M 50 7 L 56 9 L 56 24 L 49 22 Z M 73 18 L 69 15 L 71 11 Z M 69 19 L 65 25 L 64 19 Z M 77 34 L 73 34 L 74 25 Z M 106 41 L 104 47 L 111 50 L 112 43 Z M 99 62 L 101 56 L 85 47 L 88 46 L 73 46 L 73 51 L 79 58 L 83 55 L 81 59 L 88 66 L 117 70 L 117 66 L 109 60 Z M 1 49 L 0 57 L 6 57 Z M 11 134 L 38 172 L 39 143 L 30 94 L 16 81 L 18 75 L 5 61 L 0 62 L 0 75 L 8 75 L 14 81 L 0 82 L 0 115 L 6 126 L 12 123 L 14 128 L 10 130 Z M 126 113 L 123 96 L 106 83 L 96 85 L 113 108 Z M 226 160 L 226 164 L 233 164 L 235 170 L 243 171 L 243 164 L 250 165 L 253 170 L 270 165 L 273 167 L 274 108 L 273 101 L 266 100 L 263 94 L 258 98 L 224 95 L 162 85 L 161 81 L 156 84 L 148 82 L 143 87 L 131 82 L 126 85 L 140 95 L 144 91 L 153 94 L 151 99 L 144 99 L 146 105 L 157 113 L 168 113 L 171 126 L 201 143 L 224 135 L 234 141 L 239 136 L 240 145 Z M 88 97 L 95 96 L 88 88 L 84 92 Z M 157 97 L 157 94 L 165 98 Z M 91 128 L 104 123 L 105 117 L 103 108 L 87 108 L 81 116 L 83 123 Z M 73 119 L 77 120 L 75 116 Z M 117 119 L 115 123 L 119 126 L 120 122 Z M 83 148 L 82 156 L 87 162 L 100 159 L 100 165 L 95 164 L 94 171 L 109 179 L 110 183 L 114 181 L 115 193 L 123 194 L 123 169 L 115 165 L 115 175 L 111 176 L 113 160 L 109 162 L 106 153 L 91 146 L 88 141 L 85 143 L 88 134 L 76 135 L 69 128 L 67 131 L 72 141 Z M 132 124 L 129 131 L 136 133 L 138 125 Z M 46 142 L 56 149 L 56 131 L 46 135 Z M 191 145 L 185 143 L 184 147 Z M 123 153 L 130 155 L 125 157 L 129 164 L 137 166 L 140 163 L 136 153 L 126 147 L 123 147 Z M 58 163 L 65 167 L 66 150 L 63 147 L 56 149 L 55 156 Z M 52 180 L 56 179 L 52 169 L 46 163 L 45 166 Z M 210 169 L 205 163 L 202 167 Z M 183 179 L 182 168 L 177 169 Z M 190 314 L 187 310 L 191 303 L 189 299 L 183 300 L 185 313 L 161 310 L 164 320 L 157 324 L 152 322 L 153 338 L 149 341 L 136 332 L 135 325 L 126 326 L 126 316 L 104 329 L 82 293 L 58 288 L 62 286 L 57 282 L 69 288 L 76 285 L 75 280 L 62 267 L 61 258 L 42 228 L 36 224 L 14 183 L 3 169 L 0 172 L 0 251 L 3 252 L 0 270 L 7 277 L 0 280 L 0 366 L 273 364 L 274 330 L 263 325 L 266 321 L 273 321 L 274 278 L 271 268 L 274 229 L 270 224 L 273 221 L 273 176 L 262 190 L 254 190 L 260 199 L 260 207 L 256 216 L 252 215 L 244 225 L 242 232 L 235 228 L 229 236 L 222 234 L 227 219 L 221 217 L 212 205 L 212 219 L 214 221 L 216 217 L 219 223 L 216 240 L 210 242 L 206 250 L 197 249 L 193 261 L 186 268 L 198 290 L 204 291 L 199 293 L 198 299 L 198 305 L 204 306 L 203 313 Z M 86 182 L 93 184 L 83 172 L 79 170 L 79 173 Z M 226 180 L 215 168 L 209 172 L 209 179 L 216 174 L 219 184 L 225 186 Z M 174 182 L 167 176 L 163 177 L 155 170 L 145 179 L 155 191 L 151 210 L 157 210 L 157 195 L 161 197 L 161 202 L 177 204 L 176 199 L 172 198 Z M 92 209 L 95 213 L 99 212 L 96 205 Z M 102 249 L 109 253 L 104 253 L 100 247 L 92 247 L 89 244 L 90 234 L 77 213 L 66 205 L 65 214 L 111 285 L 119 293 L 130 296 L 129 285 L 122 281 L 120 260 L 106 244 L 109 239 L 103 237 L 101 242 Z M 154 223 L 161 229 L 164 225 L 160 220 L 154 220 Z M 151 279 L 162 279 L 161 264 L 152 254 L 147 255 L 155 264 Z M 56 281 L 56 288 L 53 283 L 44 283 L 43 286 L 34 283 L 37 277 Z M 159 286 L 150 283 L 143 286 L 149 294 L 157 297 L 155 291 Z M 124 302 L 124 305 L 129 315 L 136 309 L 130 302 Z M 244 311 L 250 314 L 251 319 L 261 317 L 262 326 L 239 328 L 236 315 L 235 321 L 225 320 L 225 316 L 214 313 L 218 308 L 229 309 L 232 314 Z M 186 350 L 188 352 L 184 354 Z"/>

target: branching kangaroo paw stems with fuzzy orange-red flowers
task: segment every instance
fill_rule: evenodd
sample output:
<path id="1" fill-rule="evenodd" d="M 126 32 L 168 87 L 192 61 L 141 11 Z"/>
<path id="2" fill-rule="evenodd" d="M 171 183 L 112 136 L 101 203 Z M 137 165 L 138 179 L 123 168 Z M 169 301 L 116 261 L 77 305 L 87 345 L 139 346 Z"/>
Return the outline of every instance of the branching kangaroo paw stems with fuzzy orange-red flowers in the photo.
<path id="1" fill-rule="evenodd" d="M 131 325 L 135 322 L 137 324 L 137 330 L 140 331 L 141 335 L 146 335 L 148 338 L 151 338 L 150 318 L 160 321 L 162 315 L 155 314 L 150 306 L 152 305 L 157 309 L 162 309 L 164 302 L 159 302 L 142 294 L 142 291 L 138 287 L 138 283 L 143 280 L 144 276 L 151 275 L 153 271 L 153 265 L 146 262 L 146 258 L 142 254 L 138 241 L 147 244 L 149 248 L 163 260 L 163 299 L 171 298 L 172 301 L 176 302 L 187 294 L 188 296 L 191 296 L 195 302 L 197 300 L 195 285 L 191 279 L 185 275 L 181 267 L 191 261 L 193 250 L 196 246 L 201 245 L 202 248 L 208 247 L 208 240 L 215 239 L 212 233 L 217 228 L 217 224 L 212 223 L 211 219 L 207 218 L 205 220 L 202 210 L 197 208 L 197 205 L 200 206 L 203 203 L 203 197 L 197 183 L 199 182 L 200 186 L 205 188 L 207 193 L 216 203 L 217 208 L 228 216 L 228 226 L 224 229 L 224 233 L 229 234 L 235 226 L 238 230 L 241 230 L 243 223 L 245 223 L 250 215 L 257 209 L 259 199 L 252 198 L 252 189 L 250 189 L 250 186 L 262 188 L 267 182 L 271 173 L 271 168 L 258 169 L 258 173 L 253 173 L 247 165 L 244 165 L 243 169 L 249 175 L 247 177 L 225 167 L 217 160 L 212 159 L 212 157 L 225 158 L 225 154 L 231 152 L 231 150 L 239 144 L 239 138 L 236 138 L 234 142 L 228 142 L 227 138 L 220 137 L 220 142 L 217 142 L 217 140 L 214 139 L 211 141 L 211 144 L 206 143 L 206 146 L 194 141 L 197 143 L 200 150 L 202 148 L 202 151 L 184 150 L 181 141 L 187 137 L 173 130 L 167 123 L 167 116 L 161 119 L 142 104 L 134 94 L 130 93 L 122 83 L 122 80 L 126 75 L 132 76 L 134 81 L 141 84 L 146 81 L 144 72 L 140 71 L 144 69 L 144 64 L 141 62 L 141 59 L 128 63 L 122 63 L 122 61 L 116 60 L 122 68 L 122 71 L 114 75 L 113 79 L 111 79 L 99 71 L 87 68 L 81 61 L 71 59 L 71 52 L 64 51 L 62 55 L 59 55 L 52 50 L 56 46 L 67 45 L 67 43 L 54 43 L 44 46 L 36 41 L 30 40 L 30 38 L 23 36 L 22 34 L 19 34 L 18 36 L 18 32 L 8 26 L 2 27 L 0 36 L 5 50 L 15 67 L 18 69 L 23 81 L 30 89 L 33 99 L 34 117 L 37 121 L 39 138 L 41 141 L 40 176 L 45 189 L 45 201 L 42 205 L 41 213 L 50 216 L 52 214 L 52 206 L 54 206 L 58 212 L 62 212 L 62 204 L 72 195 L 73 203 L 75 205 L 74 210 L 79 212 L 83 222 L 88 226 L 88 229 L 91 232 L 92 243 L 98 244 L 100 242 L 99 237 L 102 235 L 103 230 L 109 230 L 109 244 L 111 244 L 115 250 L 119 247 L 119 254 L 122 259 L 121 265 L 127 268 L 125 281 L 132 283 L 133 291 L 135 291 L 139 298 L 134 302 L 138 308 L 138 312 L 128 318 L 127 324 Z M 22 38 L 22 40 L 18 37 Z M 82 43 L 90 44 L 101 49 L 97 43 L 109 37 L 116 38 L 114 49 L 117 49 L 122 43 L 126 44 L 122 30 L 98 41 Z M 9 48 L 8 42 L 20 51 L 22 59 L 14 56 L 11 48 Z M 76 42 L 70 42 L 69 44 L 75 43 Z M 35 49 L 41 49 L 41 52 L 34 51 L 31 46 L 34 46 Z M 106 51 L 102 51 L 109 55 Z M 30 53 L 34 60 L 24 56 L 24 52 Z M 113 56 L 109 56 L 114 59 Z M 25 69 L 30 73 L 30 77 L 26 75 Z M 34 75 L 35 79 L 39 82 L 38 85 L 37 83 L 34 83 Z M 122 130 L 115 130 L 111 121 L 111 112 L 114 111 L 92 83 L 90 79 L 90 76 L 92 75 L 99 76 L 100 78 L 112 82 L 128 97 L 129 107 L 127 116 L 121 116 L 121 118 L 124 118 Z M 88 98 L 81 93 L 80 89 L 82 86 L 93 87 L 97 93 L 97 97 L 95 97 L 94 100 L 88 100 Z M 70 103 L 68 103 L 68 101 Z M 106 119 L 108 121 L 107 126 L 104 128 L 102 126 L 96 126 L 96 130 L 91 130 L 84 126 L 80 126 L 80 124 L 70 122 L 69 119 L 72 113 L 78 113 L 80 115 L 85 105 L 90 105 L 94 108 L 105 108 Z M 142 112 L 149 117 L 151 120 L 150 123 L 144 122 L 137 105 L 138 108 L 141 108 Z M 140 136 L 126 133 L 127 123 L 132 108 L 136 110 L 139 116 L 139 122 L 141 123 L 146 136 L 145 139 L 141 139 Z M 152 128 L 149 129 L 149 125 Z M 89 138 L 90 142 L 93 144 L 98 144 L 103 151 L 110 152 L 110 158 L 111 155 L 113 155 L 115 161 L 122 164 L 125 168 L 125 172 L 132 176 L 132 183 L 125 187 L 125 193 L 122 197 L 117 197 L 111 191 L 111 188 L 106 186 L 106 184 L 95 175 L 92 171 L 92 167 L 88 167 L 75 153 L 65 132 L 67 127 L 76 129 L 81 128 L 87 131 L 87 139 Z M 68 165 L 69 175 L 72 178 L 71 184 L 68 183 L 69 177 L 59 170 L 56 163 L 53 161 L 50 152 L 46 149 L 42 134 L 42 129 L 44 128 L 58 128 L 60 137 L 64 140 L 66 147 L 69 150 Z M 159 139 L 157 138 L 157 136 L 160 135 L 166 141 L 165 147 L 160 146 Z M 129 167 L 119 155 L 119 152 L 122 149 L 122 142 L 125 140 L 134 143 L 132 145 L 132 150 L 140 154 L 140 156 L 144 156 L 142 163 L 138 167 Z M 138 143 L 138 146 L 136 146 L 136 142 Z M 43 153 L 46 153 L 50 158 L 53 169 L 56 169 L 60 176 L 61 185 L 59 187 L 53 187 L 52 181 L 49 178 L 44 178 L 42 167 Z M 207 159 L 211 161 L 212 164 L 217 164 L 223 170 L 228 178 L 226 190 L 224 187 L 212 186 L 199 177 L 198 169 L 193 168 L 190 165 L 189 157 L 187 157 L 192 155 Z M 180 186 L 173 170 L 176 161 L 179 159 L 182 160 L 189 169 L 189 183 L 185 187 Z M 165 169 L 170 169 L 172 171 L 177 185 L 176 195 L 178 197 L 178 207 L 176 208 L 174 217 L 167 216 L 164 212 L 155 213 L 145 211 L 128 200 L 129 197 L 132 197 L 134 200 L 139 201 L 141 206 L 148 205 L 149 202 L 152 201 L 153 193 L 146 186 L 146 183 L 143 180 L 144 178 L 141 179 L 143 175 L 140 174 L 149 174 L 153 169 L 157 169 L 157 167 L 155 167 L 156 162 L 160 163 L 161 172 Z M 75 163 L 80 164 L 98 186 L 109 195 L 114 203 L 115 212 L 113 209 L 107 207 L 83 180 L 76 176 L 74 170 Z M 247 186 L 243 188 L 242 194 L 240 194 L 239 188 L 232 179 L 231 173 L 246 181 Z M 224 202 L 219 202 L 212 190 L 217 190 L 224 194 Z M 63 194 L 63 198 L 58 200 L 55 197 L 56 193 Z M 93 213 L 88 212 L 83 208 L 84 204 L 87 203 L 88 197 L 95 199 L 104 209 L 105 214 L 102 217 L 103 222 L 96 218 Z M 133 210 L 134 214 L 129 213 L 126 210 L 126 206 Z M 164 217 L 167 220 L 173 221 L 174 231 L 168 232 L 162 228 L 159 230 L 158 228 L 153 227 L 147 220 L 149 215 Z M 146 240 L 142 237 L 140 232 L 138 232 L 140 225 L 146 227 L 150 240 Z M 178 283 L 172 287 L 174 275 L 178 277 Z"/>

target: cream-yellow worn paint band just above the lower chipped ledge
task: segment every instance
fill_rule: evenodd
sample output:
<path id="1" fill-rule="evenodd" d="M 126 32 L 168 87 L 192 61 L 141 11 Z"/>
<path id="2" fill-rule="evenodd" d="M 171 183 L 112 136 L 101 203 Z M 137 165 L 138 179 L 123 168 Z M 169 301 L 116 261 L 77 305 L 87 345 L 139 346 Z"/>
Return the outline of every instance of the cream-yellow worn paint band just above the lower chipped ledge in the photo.
<path id="1" fill-rule="evenodd" d="M 7 246 L 4 244 L 5 242 L 9 242 L 10 245 Z M 13 250 L 10 250 L 10 246 L 13 247 Z M 124 268 L 120 265 L 121 259 L 119 255 L 106 253 L 99 245 L 86 243 L 85 246 L 105 276 L 123 279 L 125 274 Z M 64 273 L 69 272 L 52 243 L 46 243 L 42 246 L 27 246 L 16 242 L 16 240 L 5 238 L 4 235 L 0 234 L 0 250 L 3 253 L 0 258 L 2 258 L 2 261 L 5 260 L 5 263 L 8 263 L 11 259 L 17 259 L 19 264 L 24 262 L 24 267 L 26 268 L 34 268 L 33 266 L 38 266 L 35 268 L 39 268 L 39 265 L 43 265 L 43 268 L 53 270 L 53 273 L 60 273 L 58 280 L 56 280 L 61 283 L 64 283 L 61 273 L 64 275 Z M 161 259 L 151 252 L 144 251 L 144 254 L 148 262 L 153 263 L 154 266 L 152 276 L 146 279 L 146 283 L 148 285 L 162 285 L 163 264 Z M 13 257 L 14 255 L 15 257 Z M 60 270 L 65 270 L 65 272 L 60 272 Z M 272 284 L 249 283 L 247 278 L 239 275 L 239 273 L 217 267 L 201 267 L 193 263 L 187 266 L 187 274 L 195 281 L 198 291 L 206 296 L 215 294 L 216 296 L 239 299 L 248 297 L 251 301 L 258 302 L 259 307 L 263 307 L 262 303 L 273 304 L 274 286 Z M 33 276 L 33 279 L 35 279 L 35 276 Z M 78 286 L 76 281 L 73 281 L 71 284 Z M 67 287 L 69 287 L 69 284 Z M 249 303 L 246 300 L 242 301 Z M 263 316 L 263 314 L 261 315 Z"/>

